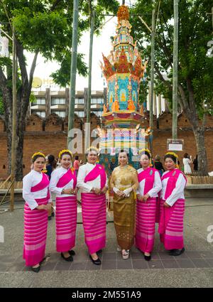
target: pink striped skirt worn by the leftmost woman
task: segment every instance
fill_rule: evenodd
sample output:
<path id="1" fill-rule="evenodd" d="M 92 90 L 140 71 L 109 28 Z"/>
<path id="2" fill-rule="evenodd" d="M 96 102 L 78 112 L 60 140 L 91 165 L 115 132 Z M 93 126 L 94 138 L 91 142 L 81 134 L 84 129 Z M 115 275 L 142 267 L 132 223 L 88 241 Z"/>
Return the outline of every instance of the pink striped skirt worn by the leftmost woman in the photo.
<path id="1" fill-rule="evenodd" d="M 48 198 L 36 199 L 38 205 L 47 205 Z M 24 205 L 23 259 L 26 266 L 34 266 L 45 257 L 48 231 L 48 211 L 37 210 Z"/>

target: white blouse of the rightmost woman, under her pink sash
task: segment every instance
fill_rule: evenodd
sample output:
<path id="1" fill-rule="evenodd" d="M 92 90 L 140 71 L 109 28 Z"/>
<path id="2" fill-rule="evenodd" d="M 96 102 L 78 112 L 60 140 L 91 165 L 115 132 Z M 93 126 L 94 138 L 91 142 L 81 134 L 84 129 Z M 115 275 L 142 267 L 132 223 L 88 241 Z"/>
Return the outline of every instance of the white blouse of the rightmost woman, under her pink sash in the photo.
<path id="1" fill-rule="evenodd" d="M 168 172 L 169 171 L 164 172 L 163 176 Z M 161 198 L 163 198 L 163 200 L 165 200 L 165 190 L 167 187 L 167 183 L 168 183 L 168 178 L 162 180 Z M 180 173 L 172 194 L 167 198 L 167 200 L 165 200 L 165 202 L 168 203 L 168 205 L 172 207 L 178 199 L 185 199 L 184 196 L 185 184 L 186 184 L 186 180 L 182 175 L 182 173 Z"/>

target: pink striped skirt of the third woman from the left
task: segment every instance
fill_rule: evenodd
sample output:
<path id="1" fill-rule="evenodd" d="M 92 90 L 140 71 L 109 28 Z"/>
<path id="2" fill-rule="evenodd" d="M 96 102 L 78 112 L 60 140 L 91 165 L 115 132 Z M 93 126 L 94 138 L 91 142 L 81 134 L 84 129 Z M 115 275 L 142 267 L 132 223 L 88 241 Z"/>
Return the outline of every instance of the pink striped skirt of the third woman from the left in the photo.
<path id="1" fill-rule="evenodd" d="M 105 194 L 82 193 L 84 238 L 89 254 L 106 245 L 107 209 Z"/>

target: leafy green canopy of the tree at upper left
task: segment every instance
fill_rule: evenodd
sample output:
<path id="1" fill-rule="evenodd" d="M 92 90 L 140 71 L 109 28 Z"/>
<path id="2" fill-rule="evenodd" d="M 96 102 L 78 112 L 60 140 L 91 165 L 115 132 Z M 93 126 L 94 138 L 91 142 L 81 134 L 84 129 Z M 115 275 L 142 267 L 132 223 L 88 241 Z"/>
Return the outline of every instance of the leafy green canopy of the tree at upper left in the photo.
<path id="1" fill-rule="evenodd" d="M 90 2 L 90 7 L 89 7 Z M 40 53 L 46 60 L 55 60 L 60 68 L 53 72 L 55 82 L 63 87 L 70 83 L 70 63 L 72 52 L 72 6 L 71 0 L 1 0 L 0 21 L 4 31 L 11 33 L 12 23 L 16 38 L 24 50 Z M 4 4 L 4 5 L 3 5 Z M 115 0 L 83 1 L 79 4 L 78 40 L 84 31 L 89 30 L 91 8 L 96 13 L 95 27 L 99 28 L 104 21 L 104 14 L 116 13 L 119 3 Z M 99 31 L 97 31 L 97 34 Z M 3 68 L 9 60 L 1 59 Z M 77 72 L 87 75 L 87 63 L 84 54 L 78 53 Z"/>

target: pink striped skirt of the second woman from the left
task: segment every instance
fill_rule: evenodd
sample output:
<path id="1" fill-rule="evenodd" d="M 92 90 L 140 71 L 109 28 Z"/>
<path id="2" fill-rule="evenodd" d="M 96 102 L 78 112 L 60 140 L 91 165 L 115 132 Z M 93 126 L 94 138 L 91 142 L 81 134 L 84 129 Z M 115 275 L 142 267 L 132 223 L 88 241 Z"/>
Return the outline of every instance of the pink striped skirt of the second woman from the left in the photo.
<path id="1" fill-rule="evenodd" d="M 68 252 L 75 247 L 77 197 L 57 197 L 55 205 L 56 250 Z"/>

